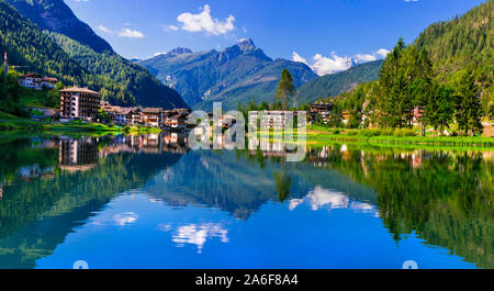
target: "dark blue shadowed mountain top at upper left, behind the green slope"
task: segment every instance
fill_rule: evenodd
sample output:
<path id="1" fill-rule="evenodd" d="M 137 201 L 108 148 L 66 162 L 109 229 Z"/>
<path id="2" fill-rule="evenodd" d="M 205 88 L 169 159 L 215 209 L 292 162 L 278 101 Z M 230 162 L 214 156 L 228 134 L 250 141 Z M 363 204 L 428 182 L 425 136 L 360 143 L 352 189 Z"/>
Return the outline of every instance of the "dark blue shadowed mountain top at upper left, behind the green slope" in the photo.
<path id="1" fill-rule="evenodd" d="M 113 52 L 110 44 L 80 21 L 63 0 L 7 0 L 41 30 L 61 33 L 94 52 Z"/>

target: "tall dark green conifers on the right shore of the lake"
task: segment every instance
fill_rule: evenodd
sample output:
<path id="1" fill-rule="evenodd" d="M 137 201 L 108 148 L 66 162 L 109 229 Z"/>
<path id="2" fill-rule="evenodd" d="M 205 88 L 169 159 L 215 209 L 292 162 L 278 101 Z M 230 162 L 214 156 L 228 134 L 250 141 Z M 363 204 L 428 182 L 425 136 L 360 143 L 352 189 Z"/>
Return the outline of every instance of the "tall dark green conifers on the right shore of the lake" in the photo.
<path id="1" fill-rule="evenodd" d="M 349 111 L 350 127 L 412 128 L 415 117 L 422 135 L 428 126 L 442 132 L 452 122 L 465 135 L 481 134 L 481 117 L 487 115 L 472 67 L 441 82 L 428 52 L 405 46 L 402 38 L 384 60 L 377 81 L 361 83 L 332 101 L 334 114 Z"/>

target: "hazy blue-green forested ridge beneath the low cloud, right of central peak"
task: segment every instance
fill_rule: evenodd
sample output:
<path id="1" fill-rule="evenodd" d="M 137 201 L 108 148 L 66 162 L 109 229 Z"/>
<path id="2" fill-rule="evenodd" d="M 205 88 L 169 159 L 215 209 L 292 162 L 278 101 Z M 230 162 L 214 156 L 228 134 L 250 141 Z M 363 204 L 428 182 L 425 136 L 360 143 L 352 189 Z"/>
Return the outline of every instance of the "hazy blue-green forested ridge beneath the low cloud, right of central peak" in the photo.
<path id="1" fill-rule="evenodd" d="M 300 88 L 299 104 L 335 97 L 361 82 L 377 80 L 382 63 L 382 59 L 363 63 L 345 71 L 313 79 Z"/>

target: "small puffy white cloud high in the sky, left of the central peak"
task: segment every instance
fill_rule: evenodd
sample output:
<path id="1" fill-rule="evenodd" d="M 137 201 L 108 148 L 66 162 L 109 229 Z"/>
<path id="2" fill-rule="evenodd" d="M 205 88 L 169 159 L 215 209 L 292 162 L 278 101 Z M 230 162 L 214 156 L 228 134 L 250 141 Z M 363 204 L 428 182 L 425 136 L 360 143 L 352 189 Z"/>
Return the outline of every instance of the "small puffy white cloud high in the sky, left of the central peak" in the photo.
<path id="1" fill-rule="evenodd" d="M 202 12 L 192 14 L 189 12 L 177 16 L 178 22 L 183 23 L 181 29 L 188 32 L 206 32 L 214 35 L 225 34 L 235 29 L 235 18 L 228 15 L 224 22 L 211 16 L 211 8 L 205 4 Z"/>

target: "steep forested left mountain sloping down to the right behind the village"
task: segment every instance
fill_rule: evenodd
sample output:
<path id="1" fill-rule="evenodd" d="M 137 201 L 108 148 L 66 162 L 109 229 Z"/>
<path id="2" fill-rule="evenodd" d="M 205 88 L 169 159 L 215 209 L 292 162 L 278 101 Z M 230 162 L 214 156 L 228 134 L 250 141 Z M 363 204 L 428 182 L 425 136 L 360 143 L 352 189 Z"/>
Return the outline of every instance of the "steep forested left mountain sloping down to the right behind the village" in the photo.
<path id="1" fill-rule="evenodd" d="M 101 45 L 98 41 L 101 38 L 96 34 L 92 38 L 88 37 L 82 29 L 80 34 L 77 30 L 69 33 L 74 38 L 59 33 L 83 24 L 76 22 L 75 16 L 68 20 L 66 15 L 57 20 L 55 12 L 40 12 L 50 7 L 55 11 L 70 11 L 63 1 L 9 1 L 14 2 L 19 10 L 0 0 L 0 43 L 1 49 L 8 52 L 11 65 L 23 66 L 21 69 L 24 71 L 57 77 L 65 85 L 88 86 L 115 104 L 167 109 L 187 107 L 173 89 L 159 82 L 146 68 L 114 53 L 110 46 Z M 42 15 L 37 19 L 33 12 L 36 9 Z M 69 14 L 74 15 L 71 11 Z M 34 15 L 34 22 L 24 15 Z M 50 15 L 45 19 L 47 24 L 36 23 L 43 23 L 40 20 L 43 15 Z M 72 23 L 75 26 L 60 23 Z M 48 24 L 52 26 L 46 26 Z M 43 31 L 41 27 L 44 27 Z"/>

